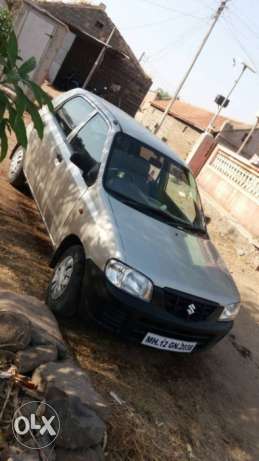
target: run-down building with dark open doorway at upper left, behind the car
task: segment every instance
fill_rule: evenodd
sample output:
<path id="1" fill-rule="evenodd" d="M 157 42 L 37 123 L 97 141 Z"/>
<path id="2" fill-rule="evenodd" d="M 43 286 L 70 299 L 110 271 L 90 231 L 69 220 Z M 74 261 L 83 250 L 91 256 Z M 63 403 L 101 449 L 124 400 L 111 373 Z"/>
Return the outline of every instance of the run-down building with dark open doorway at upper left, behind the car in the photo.
<path id="1" fill-rule="evenodd" d="M 87 88 L 97 89 L 135 115 L 152 80 L 118 29 L 106 43 L 115 25 L 104 4 L 24 0 L 15 27 L 22 57 L 38 60 L 33 78 L 38 83 L 47 78 L 58 89 L 69 89 L 70 82 L 82 86 L 105 48 Z M 105 87 L 108 90 L 104 92 Z"/>

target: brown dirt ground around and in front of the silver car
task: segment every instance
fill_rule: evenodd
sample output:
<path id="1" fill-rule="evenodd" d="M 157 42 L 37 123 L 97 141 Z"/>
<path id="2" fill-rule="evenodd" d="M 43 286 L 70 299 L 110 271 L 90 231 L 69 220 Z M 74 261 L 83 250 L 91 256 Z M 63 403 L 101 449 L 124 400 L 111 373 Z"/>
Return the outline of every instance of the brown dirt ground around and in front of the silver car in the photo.
<path id="1" fill-rule="evenodd" d="M 44 299 L 49 239 L 32 198 L 7 184 L 5 169 L 0 165 L 0 286 Z M 76 320 L 63 325 L 82 367 L 112 405 L 110 461 L 259 460 L 256 252 L 209 203 L 206 212 L 211 237 L 243 299 L 232 334 L 213 350 L 160 353 Z"/>

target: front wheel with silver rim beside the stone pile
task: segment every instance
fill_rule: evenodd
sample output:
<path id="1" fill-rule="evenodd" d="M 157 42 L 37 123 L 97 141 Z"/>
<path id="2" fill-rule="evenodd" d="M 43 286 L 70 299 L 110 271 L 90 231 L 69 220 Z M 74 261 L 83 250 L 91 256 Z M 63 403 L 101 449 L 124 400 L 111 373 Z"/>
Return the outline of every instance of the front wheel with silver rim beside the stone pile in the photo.
<path id="1" fill-rule="evenodd" d="M 85 269 L 81 245 L 69 247 L 59 258 L 47 290 L 47 305 L 57 316 L 72 317 L 78 311 Z"/>

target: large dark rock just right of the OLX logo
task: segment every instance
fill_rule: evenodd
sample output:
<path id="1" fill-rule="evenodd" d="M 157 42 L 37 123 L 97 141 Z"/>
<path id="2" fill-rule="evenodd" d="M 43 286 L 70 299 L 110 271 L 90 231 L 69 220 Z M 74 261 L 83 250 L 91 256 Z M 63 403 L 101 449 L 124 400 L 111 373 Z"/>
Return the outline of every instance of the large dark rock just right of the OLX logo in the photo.
<path id="1" fill-rule="evenodd" d="M 105 424 L 91 408 L 81 402 L 79 397 L 68 396 L 65 392 L 53 387 L 47 392 L 46 401 L 56 410 L 60 419 L 60 432 L 55 441 L 56 447 L 86 450 L 102 443 L 105 436 Z M 48 409 L 46 415 L 48 417 Z M 58 427 L 55 423 L 53 424 L 57 432 Z"/>

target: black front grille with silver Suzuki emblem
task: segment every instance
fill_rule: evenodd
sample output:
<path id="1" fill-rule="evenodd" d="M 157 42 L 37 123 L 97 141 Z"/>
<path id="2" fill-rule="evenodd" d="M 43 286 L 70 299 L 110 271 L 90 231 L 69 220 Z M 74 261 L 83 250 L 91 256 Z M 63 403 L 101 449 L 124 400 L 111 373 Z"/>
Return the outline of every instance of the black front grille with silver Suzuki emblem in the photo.
<path id="1" fill-rule="evenodd" d="M 165 289 L 165 308 L 189 322 L 216 320 L 223 310 L 217 303 L 171 289 Z"/>

